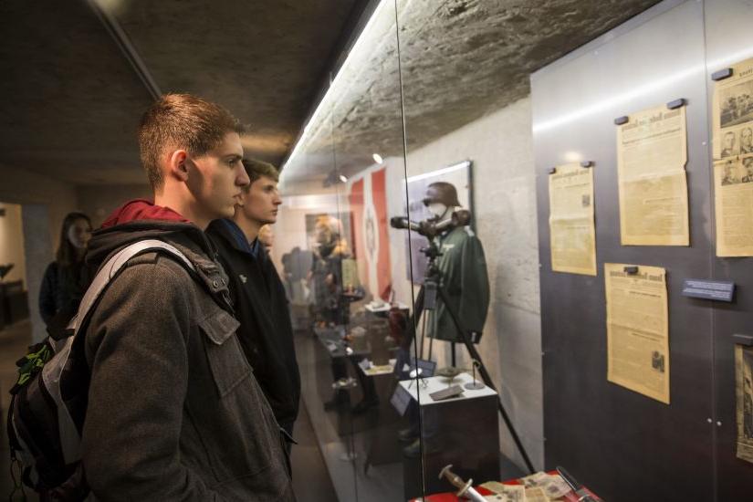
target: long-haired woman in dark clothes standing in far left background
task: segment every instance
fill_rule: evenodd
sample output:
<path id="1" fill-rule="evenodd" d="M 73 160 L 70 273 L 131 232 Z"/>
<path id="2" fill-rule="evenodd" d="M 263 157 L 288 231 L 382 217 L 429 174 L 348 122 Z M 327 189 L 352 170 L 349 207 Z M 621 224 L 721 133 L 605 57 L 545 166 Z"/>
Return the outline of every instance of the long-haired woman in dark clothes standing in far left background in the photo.
<path id="1" fill-rule="evenodd" d="M 91 221 L 83 213 L 68 213 L 60 229 L 60 244 L 55 261 L 50 263 L 39 290 L 39 313 L 47 327 L 58 324 L 54 319 L 70 319 L 89 286 L 89 274 L 84 265 L 91 238 Z M 60 324 L 68 322 L 61 319 Z"/>

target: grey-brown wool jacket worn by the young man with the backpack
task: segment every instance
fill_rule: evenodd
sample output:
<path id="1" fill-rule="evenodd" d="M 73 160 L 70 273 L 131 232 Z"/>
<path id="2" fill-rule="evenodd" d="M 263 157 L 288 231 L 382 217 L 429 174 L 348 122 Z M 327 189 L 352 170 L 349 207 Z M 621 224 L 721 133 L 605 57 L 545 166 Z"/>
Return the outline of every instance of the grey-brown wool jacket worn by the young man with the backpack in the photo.
<path id="1" fill-rule="evenodd" d="M 235 337 L 225 273 L 193 225 L 133 222 L 95 234 L 103 260 L 142 238 L 196 267 L 131 259 L 86 329 L 84 472 L 97 500 L 295 500 L 277 422 Z"/>

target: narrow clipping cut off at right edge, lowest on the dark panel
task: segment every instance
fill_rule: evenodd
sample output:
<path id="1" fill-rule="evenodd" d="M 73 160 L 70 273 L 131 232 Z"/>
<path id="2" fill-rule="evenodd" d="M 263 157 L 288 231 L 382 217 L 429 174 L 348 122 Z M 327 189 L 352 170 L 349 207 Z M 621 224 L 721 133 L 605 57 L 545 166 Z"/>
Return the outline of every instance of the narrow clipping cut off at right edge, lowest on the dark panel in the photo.
<path id="1" fill-rule="evenodd" d="M 735 346 L 737 458 L 753 463 L 753 347 Z"/>

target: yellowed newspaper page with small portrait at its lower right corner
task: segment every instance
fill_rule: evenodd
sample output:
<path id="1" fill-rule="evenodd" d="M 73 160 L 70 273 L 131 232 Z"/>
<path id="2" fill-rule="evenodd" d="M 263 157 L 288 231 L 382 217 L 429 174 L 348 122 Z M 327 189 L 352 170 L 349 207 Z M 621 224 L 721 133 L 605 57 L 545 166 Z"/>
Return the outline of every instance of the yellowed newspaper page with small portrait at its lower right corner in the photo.
<path id="1" fill-rule="evenodd" d="M 604 277 L 607 380 L 669 404 L 666 270 L 606 263 Z"/>

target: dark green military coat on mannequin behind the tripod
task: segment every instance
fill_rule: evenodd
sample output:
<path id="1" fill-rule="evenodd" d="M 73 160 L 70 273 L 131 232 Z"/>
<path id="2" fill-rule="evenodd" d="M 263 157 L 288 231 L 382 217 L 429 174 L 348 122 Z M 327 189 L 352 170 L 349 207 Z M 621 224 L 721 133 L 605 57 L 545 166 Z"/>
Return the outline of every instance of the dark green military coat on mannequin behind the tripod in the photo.
<path id="1" fill-rule="evenodd" d="M 436 237 L 442 256 L 437 266 L 442 273 L 442 286 L 448 303 L 455 307 L 461 324 L 478 340 L 489 308 L 489 277 L 486 274 L 484 247 L 467 227 L 458 227 Z M 463 338 L 447 307 L 437 298 L 436 309 L 429 311 L 428 335 L 438 340 L 462 342 Z"/>

